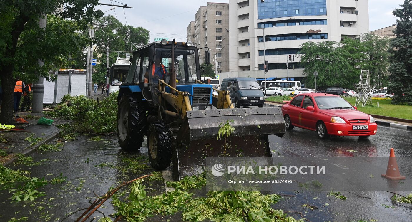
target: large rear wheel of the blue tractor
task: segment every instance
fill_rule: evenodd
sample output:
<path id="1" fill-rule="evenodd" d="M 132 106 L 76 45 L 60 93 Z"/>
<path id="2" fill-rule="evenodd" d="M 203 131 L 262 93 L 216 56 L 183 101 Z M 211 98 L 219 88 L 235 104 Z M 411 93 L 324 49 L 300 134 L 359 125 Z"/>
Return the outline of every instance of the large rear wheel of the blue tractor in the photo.
<path id="1" fill-rule="evenodd" d="M 136 151 L 143 143 L 147 131 L 146 111 L 139 100 L 124 95 L 117 110 L 119 144 L 124 151 Z"/>

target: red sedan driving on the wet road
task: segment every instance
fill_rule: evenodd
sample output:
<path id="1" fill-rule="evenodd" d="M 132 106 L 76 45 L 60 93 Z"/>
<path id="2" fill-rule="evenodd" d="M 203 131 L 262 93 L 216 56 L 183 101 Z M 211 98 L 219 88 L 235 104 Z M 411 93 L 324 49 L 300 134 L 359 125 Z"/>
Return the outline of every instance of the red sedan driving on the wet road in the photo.
<path id="1" fill-rule="evenodd" d="M 288 101 L 283 101 L 288 102 Z M 314 130 L 319 138 L 334 136 L 359 136 L 361 139 L 375 135 L 377 125 L 372 116 L 337 95 L 304 93 L 295 96 L 282 106 L 286 130 L 300 127 Z"/>

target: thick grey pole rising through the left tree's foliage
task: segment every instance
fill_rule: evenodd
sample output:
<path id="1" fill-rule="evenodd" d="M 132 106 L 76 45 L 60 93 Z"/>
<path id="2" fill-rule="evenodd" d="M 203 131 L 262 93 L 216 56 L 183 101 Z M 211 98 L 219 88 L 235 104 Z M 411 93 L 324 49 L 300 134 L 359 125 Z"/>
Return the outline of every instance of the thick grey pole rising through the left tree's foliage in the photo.
<path id="1" fill-rule="evenodd" d="M 47 15 L 43 15 L 39 19 L 39 28 L 44 29 L 47 25 Z M 37 63 L 40 67 L 44 66 L 44 61 L 38 59 Z M 33 106 L 32 113 L 41 113 L 43 111 L 43 94 L 44 94 L 44 78 L 39 76 L 36 83 L 33 84 Z"/>

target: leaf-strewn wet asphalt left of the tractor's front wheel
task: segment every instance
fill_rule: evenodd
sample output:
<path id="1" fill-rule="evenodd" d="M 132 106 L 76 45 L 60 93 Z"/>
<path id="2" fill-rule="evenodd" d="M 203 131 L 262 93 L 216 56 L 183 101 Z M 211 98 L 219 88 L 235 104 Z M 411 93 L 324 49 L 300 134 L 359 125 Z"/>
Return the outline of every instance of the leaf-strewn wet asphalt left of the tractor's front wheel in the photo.
<path id="1" fill-rule="evenodd" d="M 12 167 L 31 171 L 30 177 L 44 177 L 48 181 L 59 177 L 61 172 L 63 177 L 67 178 L 61 184 L 49 183 L 39 189 L 44 191 L 46 196 L 34 201 L 11 201 L 9 198 L 12 194 L 8 190 L 0 190 L 1 220 L 28 217 L 28 221 L 59 221 L 78 209 L 89 207 L 88 202 L 96 199 L 93 192 L 103 195 L 110 187 L 152 172 L 145 144 L 140 152 L 124 153 L 120 150 L 115 136 L 104 141 L 87 139 L 89 138 L 86 136 L 77 137 L 76 141 L 66 143 L 62 151 L 35 153 L 32 155 L 33 162 L 40 161 L 40 165 Z M 159 193 L 164 191 L 163 181 L 151 180 L 149 183 L 151 189 Z M 99 210 L 106 216 L 115 213 L 110 200 Z M 82 212 L 84 210 L 65 221 L 75 220 Z M 93 216 L 103 215 L 96 212 Z"/>

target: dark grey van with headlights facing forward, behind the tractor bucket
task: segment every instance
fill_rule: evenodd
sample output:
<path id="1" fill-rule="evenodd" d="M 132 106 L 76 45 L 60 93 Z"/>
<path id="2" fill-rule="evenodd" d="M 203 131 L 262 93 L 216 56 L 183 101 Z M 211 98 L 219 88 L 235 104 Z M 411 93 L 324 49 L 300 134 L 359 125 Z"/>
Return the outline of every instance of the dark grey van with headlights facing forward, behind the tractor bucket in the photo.
<path id="1" fill-rule="evenodd" d="M 262 108 L 265 105 L 265 95 L 263 95 L 255 78 L 226 78 L 223 79 L 220 89 L 230 92 L 230 98 L 236 108 L 240 108 L 240 106 L 259 106 Z"/>

